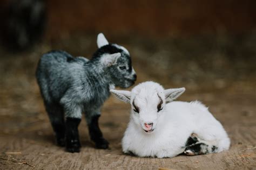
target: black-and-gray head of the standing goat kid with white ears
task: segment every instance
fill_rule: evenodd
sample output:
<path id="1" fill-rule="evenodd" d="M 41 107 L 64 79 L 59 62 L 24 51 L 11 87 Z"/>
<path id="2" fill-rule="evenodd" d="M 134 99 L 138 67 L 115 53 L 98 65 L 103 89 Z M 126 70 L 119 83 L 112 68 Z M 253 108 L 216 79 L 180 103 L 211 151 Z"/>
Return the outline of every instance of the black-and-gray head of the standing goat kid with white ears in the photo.
<path id="1" fill-rule="evenodd" d="M 93 59 L 98 59 L 102 63 L 114 85 L 121 88 L 132 86 L 137 75 L 127 49 L 117 44 L 109 44 L 103 33 L 98 34 L 97 45 L 98 50 L 93 54 Z"/>

